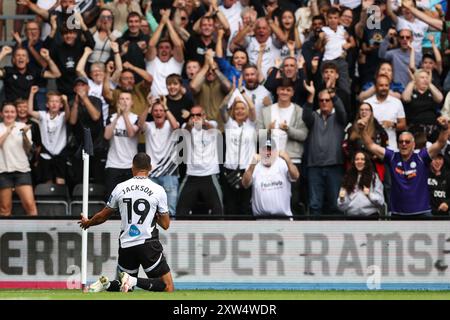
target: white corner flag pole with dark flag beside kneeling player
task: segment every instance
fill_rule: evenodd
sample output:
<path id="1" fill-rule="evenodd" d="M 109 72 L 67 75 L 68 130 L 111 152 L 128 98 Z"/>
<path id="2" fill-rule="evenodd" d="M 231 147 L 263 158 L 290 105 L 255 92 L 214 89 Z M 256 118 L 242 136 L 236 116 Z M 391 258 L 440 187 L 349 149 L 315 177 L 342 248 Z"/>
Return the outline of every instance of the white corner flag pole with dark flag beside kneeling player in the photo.
<path id="1" fill-rule="evenodd" d="M 84 128 L 84 143 L 83 143 L 83 208 L 82 215 L 88 217 L 88 201 L 89 201 L 89 156 L 94 155 L 94 148 L 92 143 L 91 130 Z M 81 233 L 81 290 L 85 292 L 86 278 L 87 278 L 87 230 L 82 230 Z"/>

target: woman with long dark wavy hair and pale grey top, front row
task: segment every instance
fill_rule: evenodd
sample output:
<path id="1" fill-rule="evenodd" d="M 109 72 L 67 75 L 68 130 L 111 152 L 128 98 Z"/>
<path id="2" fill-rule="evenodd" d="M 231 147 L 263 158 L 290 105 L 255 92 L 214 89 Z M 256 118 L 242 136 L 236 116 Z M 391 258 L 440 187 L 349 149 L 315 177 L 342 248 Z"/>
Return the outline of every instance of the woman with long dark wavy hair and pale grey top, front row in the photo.
<path id="1" fill-rule="evenodd" d="M 370 156 L 358 151 L 342 181 L 337 206 L 348 216 L 377 217 L 383 205 L 383 185 Z"/>

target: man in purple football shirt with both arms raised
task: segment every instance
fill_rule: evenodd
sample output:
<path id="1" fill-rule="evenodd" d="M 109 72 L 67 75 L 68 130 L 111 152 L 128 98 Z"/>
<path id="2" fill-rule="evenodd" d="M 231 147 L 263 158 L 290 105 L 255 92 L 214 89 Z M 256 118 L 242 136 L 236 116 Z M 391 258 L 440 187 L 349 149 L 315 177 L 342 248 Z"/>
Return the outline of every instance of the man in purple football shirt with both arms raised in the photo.
<path id="1" fill-rule="evenodd" d="M 414 136 L 403 132 L 398 138 L 398 152 L 381 147 L 367 134 L 367 123 L 358 121 L 367 149 L 388 165 L 392 177 L 391 203 L 389 211 L 393 216 L 416 218 L 431 216 L 427 179 L 431 160 L 445 146 L 448 138 L 448 119 L 439 117 L 439 137 L 435 143 L 419 152 L 414 152 Z"/>

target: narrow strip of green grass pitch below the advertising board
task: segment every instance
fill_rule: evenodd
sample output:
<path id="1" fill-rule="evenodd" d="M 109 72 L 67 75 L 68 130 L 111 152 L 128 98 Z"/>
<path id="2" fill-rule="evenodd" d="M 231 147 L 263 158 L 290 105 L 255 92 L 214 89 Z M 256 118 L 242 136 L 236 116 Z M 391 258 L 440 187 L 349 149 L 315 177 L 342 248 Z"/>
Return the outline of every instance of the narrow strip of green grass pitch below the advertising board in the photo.
<path id="1" fill-rule="evenodd" d="M 0 290 L 0 300 L 450 300 L 450 291 L 244 291 L 136 290 L 82 293 L 80 290 Z"/>

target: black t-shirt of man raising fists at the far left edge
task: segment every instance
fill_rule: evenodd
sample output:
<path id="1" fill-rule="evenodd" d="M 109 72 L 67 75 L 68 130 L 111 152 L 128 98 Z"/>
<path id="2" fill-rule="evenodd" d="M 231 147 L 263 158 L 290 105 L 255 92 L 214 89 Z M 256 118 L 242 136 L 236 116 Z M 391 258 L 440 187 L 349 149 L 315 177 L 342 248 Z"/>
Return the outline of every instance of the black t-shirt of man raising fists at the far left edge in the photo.
<path id="1" fill-rule="evenodd" d="M 14 102 L 22 98 L 28 99 L 30 89 L 34 85 L 39 85 L 44 69 L 33 70 L 29 67 L 22 74 L 16 67 L 3 68 L 3 84 L 5 86 L 6 101 Z"/>

